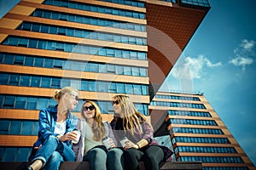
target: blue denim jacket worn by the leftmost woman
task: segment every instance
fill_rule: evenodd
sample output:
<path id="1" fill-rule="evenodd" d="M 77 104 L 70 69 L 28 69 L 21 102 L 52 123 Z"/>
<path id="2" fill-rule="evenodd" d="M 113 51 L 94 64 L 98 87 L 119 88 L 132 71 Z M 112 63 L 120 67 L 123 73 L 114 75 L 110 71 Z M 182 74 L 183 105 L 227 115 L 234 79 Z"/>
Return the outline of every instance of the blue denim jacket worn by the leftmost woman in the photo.
<path id="1" fill-rule="evenodd" d="M 34 147 L 38 147 L 40 144 L 44 142 L 45 139 L 48 138 L 49 135 L 57 135 L 55 134 L 55 124 L 57 120 L 57 106 L 49 107 L 41 110 L 39 112 L 39 130 L 38 130 L 38 140 L 33 145 Z M 78 117 L 74 116 L 70 111 L 67 112 L 67 120 L 66 120 L 66 132 L 72 132 L 73 129 L 78 124 Z M 72 147 L 71 140 L 65 141 L 65 143 Z"/>

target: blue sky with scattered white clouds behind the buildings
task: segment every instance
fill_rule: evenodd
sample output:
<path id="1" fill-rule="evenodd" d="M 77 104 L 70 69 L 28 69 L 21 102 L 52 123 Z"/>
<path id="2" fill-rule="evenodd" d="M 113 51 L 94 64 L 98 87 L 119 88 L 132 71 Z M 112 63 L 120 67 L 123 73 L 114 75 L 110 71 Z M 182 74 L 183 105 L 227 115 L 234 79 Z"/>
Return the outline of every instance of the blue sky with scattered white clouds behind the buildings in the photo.
<path id="1" fill-rule="evenodd" d="M 19 0 L 0 0 L 0 18 Z M 163 89 L 204 93 L 256 165 L 254 0 L 209 0 L 211 9 Z"/>

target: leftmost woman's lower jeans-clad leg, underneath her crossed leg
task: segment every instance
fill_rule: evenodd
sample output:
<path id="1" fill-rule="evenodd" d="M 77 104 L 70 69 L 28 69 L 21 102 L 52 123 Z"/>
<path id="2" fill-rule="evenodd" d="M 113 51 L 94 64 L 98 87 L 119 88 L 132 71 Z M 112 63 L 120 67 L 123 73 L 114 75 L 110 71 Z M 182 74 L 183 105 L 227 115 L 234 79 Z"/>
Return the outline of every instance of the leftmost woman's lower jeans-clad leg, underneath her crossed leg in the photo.
<path id="1" fill-rule="evenodd" d="M 49 160 L 45 163 L 43 170 L 58 170 L 63 161 L 60 152 L 54 151 L 49 157 Z"/>

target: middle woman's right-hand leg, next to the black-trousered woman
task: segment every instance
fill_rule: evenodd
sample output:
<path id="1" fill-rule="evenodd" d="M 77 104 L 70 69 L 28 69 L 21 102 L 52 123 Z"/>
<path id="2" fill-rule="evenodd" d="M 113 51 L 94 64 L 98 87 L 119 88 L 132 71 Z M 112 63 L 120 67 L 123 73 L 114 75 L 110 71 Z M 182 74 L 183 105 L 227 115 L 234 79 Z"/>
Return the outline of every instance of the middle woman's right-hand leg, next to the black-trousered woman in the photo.
<path id="1" fill-rule="evenodd" d="M 125 169 L 123 153 L 124 153 L 124 150 L 119 148 L 113 148 L 111 150 L 108 150 L 108 156 L 107 156 L 108 170 Z"/>

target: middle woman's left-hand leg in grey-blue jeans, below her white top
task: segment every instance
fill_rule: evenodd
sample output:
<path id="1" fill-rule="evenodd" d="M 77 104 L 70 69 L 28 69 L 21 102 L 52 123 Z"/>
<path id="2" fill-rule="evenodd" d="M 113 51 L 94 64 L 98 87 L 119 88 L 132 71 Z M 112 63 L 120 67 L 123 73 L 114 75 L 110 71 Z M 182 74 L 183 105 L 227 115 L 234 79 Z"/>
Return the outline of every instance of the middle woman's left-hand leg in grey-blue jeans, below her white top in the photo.
<path id="1" fill-rule="evenodd" d="M 90 170 L 107 170 L 107 153 L 102 148 L 93 148 L 84 156 L 83 161 L 90 162 Z"/>

